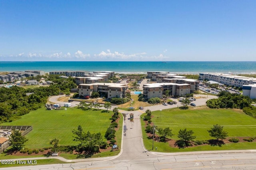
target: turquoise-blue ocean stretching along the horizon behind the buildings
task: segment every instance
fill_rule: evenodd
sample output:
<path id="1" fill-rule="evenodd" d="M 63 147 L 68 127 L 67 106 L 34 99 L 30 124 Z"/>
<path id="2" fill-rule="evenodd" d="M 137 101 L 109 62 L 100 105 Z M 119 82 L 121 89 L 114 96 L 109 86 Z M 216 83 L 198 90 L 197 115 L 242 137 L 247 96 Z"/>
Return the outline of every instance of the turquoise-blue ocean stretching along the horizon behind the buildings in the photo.
<path id="1" fill-rule="evenodd" d="M 114 71 L 116 73 L 256 73 L 256 61 L 0 61 L 0 71 Z"/>

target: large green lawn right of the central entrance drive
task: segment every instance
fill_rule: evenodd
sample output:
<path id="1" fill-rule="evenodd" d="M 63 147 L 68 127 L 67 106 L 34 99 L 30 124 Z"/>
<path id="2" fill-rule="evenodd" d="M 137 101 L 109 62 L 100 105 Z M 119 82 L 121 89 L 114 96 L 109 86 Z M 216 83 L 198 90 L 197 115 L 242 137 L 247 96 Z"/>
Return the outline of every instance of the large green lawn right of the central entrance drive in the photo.
<path id="1" fill-rule="evenodd" d="M 177 134 L 180 129 L 187 128 L 193 130 L 196 136 L 195 140 L 213 139 L 209 136 L 207 130 L 213 125 L 222 125 L 228 132 L 229 137 L 247 137 L 256 136 L 256 119 L 245 115 L 238 109 L 194 109 L 180 110 L 166 109 L 152 112 L 152 122 L 158 128 L 170 127 L 175 134 L 172 139 L 177 140 Z M 144 115 L 142 115 L 144 117 Z M 146 136 L 145 123 L 142 120 L 142 134 L 144 145 L 147 149 L 152 149 L 152 139 Z M 154 142 L 154 147 L 158 147 L 159 152 L 183 152 L 183 151 L 200 151 L 200 150 L 233 150 L 233 149 L 256 149 L 255 142 L 238 142 L 219 146 L 196 146 L 192 148 L 178 149 L 171 148 L 168 143 Z"/>

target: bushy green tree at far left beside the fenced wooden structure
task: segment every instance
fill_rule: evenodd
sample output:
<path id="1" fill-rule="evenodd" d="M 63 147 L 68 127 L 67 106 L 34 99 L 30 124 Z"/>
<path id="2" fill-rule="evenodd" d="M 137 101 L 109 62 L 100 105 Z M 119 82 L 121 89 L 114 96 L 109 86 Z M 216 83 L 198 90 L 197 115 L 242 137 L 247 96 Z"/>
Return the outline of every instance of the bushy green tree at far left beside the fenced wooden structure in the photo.
<path id="1" fill-rule="evenodd" d="M 22 149 L 22 147 L 25 146 L 24 143 L 26 141 L 28 141 L 28 139 L 22 136 L 18 130 L 14 130 L 14 132 L 10 135 L 10 146 L 12 146 L 14 150 L 18 151 Z"/>

